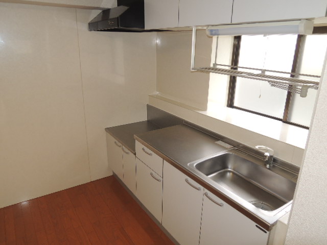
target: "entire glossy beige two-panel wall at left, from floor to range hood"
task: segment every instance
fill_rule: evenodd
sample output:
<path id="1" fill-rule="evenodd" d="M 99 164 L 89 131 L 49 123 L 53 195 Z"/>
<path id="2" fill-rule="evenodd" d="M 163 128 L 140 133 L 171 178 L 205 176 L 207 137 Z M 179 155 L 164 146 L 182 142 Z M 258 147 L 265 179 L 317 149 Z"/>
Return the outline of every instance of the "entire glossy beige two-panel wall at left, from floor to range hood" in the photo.
<path id="1" fill-rule="evenodd" d="M 155 34 L 96 14 L 0 3 L 0 207 L 108 176 L 104 128 L 146 119 Z"/>

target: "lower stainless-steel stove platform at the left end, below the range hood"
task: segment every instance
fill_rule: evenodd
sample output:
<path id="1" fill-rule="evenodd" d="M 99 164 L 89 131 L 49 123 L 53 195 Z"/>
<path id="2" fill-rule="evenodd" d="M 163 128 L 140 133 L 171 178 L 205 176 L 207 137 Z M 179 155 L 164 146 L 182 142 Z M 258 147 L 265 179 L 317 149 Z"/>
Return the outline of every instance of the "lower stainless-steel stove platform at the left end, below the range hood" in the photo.
<path id="1" fill-rule="evenodd" d="M 149 121 L 138 121 L 132 124 L 125 124 L 106 128 L 106 132 L 122 143 L 130 152 L 135 155 L 134 134 L 141 134 L 152 130 L 160 129 Z"/>

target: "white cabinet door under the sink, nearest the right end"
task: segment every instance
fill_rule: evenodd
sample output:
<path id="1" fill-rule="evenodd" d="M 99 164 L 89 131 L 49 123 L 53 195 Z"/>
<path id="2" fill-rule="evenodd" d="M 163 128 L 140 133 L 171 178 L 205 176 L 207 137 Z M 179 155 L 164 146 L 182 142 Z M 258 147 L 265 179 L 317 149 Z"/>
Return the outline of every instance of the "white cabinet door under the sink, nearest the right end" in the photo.
<path id="1" fill-rule="evenodd" d="M 204 190 L 200 245 L 265 245 L 268 235 L 252 220 Z"/>

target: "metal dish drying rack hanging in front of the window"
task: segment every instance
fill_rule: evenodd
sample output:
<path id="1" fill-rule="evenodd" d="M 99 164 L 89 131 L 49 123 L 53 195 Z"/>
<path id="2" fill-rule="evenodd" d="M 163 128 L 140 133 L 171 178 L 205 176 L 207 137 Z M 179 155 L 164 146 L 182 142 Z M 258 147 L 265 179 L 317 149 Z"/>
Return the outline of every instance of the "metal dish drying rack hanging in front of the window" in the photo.
<path id="1" fill-rule="evenodd" d="M 242 66 L 232 66 L 226 64 L 214 63 L 211 67 L 195 67 L 195 43 L 196 43 L 196 27 L 193 27 L 192 35 L 192 58 L 191 58 L 191 71 L 202 71 L 211 72 L 216 74 L 222 74 L 227 76 L 235 76 L 240 78 L 255 79 L 260 81 L 266 81 L 272 87 L 284 89 L 292 93 L 300 94 L 301 97 L 306 97 L 308 94 L 308 89 L 318 89 L 319 82 L 307 79 L 299 79 L 296 77 L 308 77 L 311 79 L 320 78 L 320 76 L 308 75 L 308 74 L 298 74 L 293 72 L 278 71 L 278 70 L 268 70 L 260 68 L 250 68 Z M 242 70 L 238 70 L 242 69 Z M 258 71 L 255 73 L 253 71 Z M 267 72 L 273 72 L 275 74 L 280 74 L 281 76 L 267 75 Z M 282 77 L 282 75 L 289 75 L 290 77 Z"/>

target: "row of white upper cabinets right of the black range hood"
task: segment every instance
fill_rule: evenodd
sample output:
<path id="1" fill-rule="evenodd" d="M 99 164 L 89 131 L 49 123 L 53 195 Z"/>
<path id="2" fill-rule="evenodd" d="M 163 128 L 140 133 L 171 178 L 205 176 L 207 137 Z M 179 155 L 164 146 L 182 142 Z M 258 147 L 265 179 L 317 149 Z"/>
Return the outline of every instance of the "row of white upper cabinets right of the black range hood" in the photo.
<path id="1" fill-rule="evenodd" d="M 145 0 L 145 28 L 324 17 L 326 0 Z"/>

